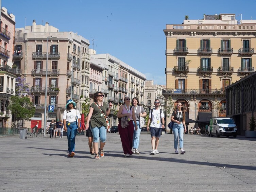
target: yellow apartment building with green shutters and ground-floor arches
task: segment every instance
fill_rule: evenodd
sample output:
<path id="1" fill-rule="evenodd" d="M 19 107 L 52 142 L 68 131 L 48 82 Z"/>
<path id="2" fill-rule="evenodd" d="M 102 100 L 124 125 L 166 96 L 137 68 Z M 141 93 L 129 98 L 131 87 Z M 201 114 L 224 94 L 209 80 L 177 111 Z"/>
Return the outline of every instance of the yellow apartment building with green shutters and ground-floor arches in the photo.
<path id="1" fill-rule="evenodd" d="M 165 98 L 175 102 L 172 107 L 183 102 L 200 127 L 212 116 L 225 116 L 225 87 L 254 71 L 256 21 L 236 20 L 235 14 L 204 15 L 167 24 L 164 33 Z"/>

